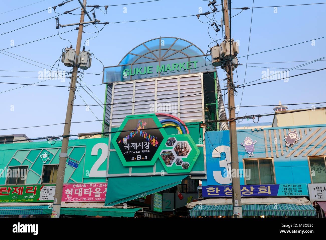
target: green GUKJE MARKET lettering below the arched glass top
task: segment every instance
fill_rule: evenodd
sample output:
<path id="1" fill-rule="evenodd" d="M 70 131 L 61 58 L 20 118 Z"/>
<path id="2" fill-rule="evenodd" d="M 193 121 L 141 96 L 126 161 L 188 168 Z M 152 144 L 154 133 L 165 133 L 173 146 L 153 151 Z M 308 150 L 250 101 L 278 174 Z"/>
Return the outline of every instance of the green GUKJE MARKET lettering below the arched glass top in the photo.
<path id="1" fill-rule="evenodd" d="M 125 69 L 123 71 L 124 76 L 134 76 L 134 75 L 141 75 L 141 74 L 150 74 L 156 70 L 156 73 L 161 72 L 174 72 L 174 71 L 181 71 L 181 70 L 188 70 L 188 69 L 196 69 L 198 61 L 192 62 L 180 62 L 180 63 L 173 63 L 173 64 L 166 64 L 166 65 L 156 65 L 154 66 L 147 66 L 147 67 L 140 67 L 140 68 L 130 68 Z M 154 68 L 154 69 L 153 69 Z"/>

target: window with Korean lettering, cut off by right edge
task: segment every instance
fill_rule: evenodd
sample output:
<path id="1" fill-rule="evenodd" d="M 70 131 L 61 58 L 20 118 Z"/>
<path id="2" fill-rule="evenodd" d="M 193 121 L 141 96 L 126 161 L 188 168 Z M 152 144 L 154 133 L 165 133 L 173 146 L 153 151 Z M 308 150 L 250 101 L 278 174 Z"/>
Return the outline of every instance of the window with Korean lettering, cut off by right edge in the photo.
<path id="1" fill-rule="evenodd" d="M 326 183 L 325 156 L 308 157 L 311 183 Z"/>

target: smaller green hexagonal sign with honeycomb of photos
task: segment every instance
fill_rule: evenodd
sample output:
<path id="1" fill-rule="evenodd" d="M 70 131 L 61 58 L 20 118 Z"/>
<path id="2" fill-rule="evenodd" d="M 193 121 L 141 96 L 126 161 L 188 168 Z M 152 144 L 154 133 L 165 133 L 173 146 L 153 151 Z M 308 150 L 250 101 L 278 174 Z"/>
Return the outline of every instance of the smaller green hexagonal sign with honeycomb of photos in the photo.
<path id="1" fill-rule="evenodd" d="M 159 147 L 159 159 L 168 173 L 188 173 L 200 154 L 189 134 L 167 136 Z"/>

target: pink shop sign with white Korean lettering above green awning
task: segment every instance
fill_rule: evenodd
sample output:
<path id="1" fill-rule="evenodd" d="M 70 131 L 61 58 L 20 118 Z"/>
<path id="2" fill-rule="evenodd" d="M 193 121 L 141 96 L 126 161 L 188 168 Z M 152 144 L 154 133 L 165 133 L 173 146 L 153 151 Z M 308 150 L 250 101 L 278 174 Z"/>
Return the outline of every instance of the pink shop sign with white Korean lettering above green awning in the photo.
<path id="1" fill-rule="evenodd" d="M 104 202 L 108 184 L 64 184 L 63 202 Z"/>

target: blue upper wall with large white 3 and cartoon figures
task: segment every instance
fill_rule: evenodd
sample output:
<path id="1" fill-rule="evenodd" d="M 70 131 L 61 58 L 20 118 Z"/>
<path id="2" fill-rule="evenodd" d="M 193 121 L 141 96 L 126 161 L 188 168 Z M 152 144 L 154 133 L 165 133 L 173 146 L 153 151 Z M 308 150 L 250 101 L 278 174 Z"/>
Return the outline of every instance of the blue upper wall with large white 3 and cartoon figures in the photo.
<path id="1" fill-rule="evenodd" d="M 229 131 L 206 132 L 205 137 L 203 185 L 229 184 Z M 326 124 L 237 130 L 237 139 L 241 185 L 326 183 Z"/>

